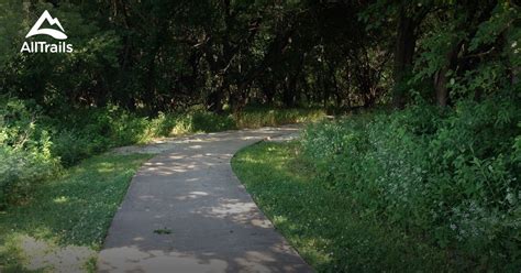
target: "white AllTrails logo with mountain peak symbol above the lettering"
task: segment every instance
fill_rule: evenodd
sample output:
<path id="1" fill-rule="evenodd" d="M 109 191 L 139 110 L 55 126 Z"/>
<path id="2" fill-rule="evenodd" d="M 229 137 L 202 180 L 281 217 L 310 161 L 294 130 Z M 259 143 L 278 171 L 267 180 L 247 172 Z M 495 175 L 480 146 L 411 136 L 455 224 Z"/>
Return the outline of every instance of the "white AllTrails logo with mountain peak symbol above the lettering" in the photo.
<path id="1" fill-rule="evenodd" d="M 54 29 L 41 29 L 42 24 L 47 21 L 51 25 L 57 25 L 59 30 Z M 35 35 L 49 35 L 56 40 L 66 40 L 67 35 L 65 34 L 65 30 L 59 23 L 59 20 L 56 18 L 51 17 L 48 11 L 44 11 L 40 17 L 38 21 L 33 25 L 33 28 L 29 31 L 25 37 L 31 37 Z M 73 45 L 67 44 L 66 42 L 58 42 L 57 44 L 52 44 L 47 42 L 24 42 L 22 45 L 22 50 L 20 52 L 27 52 L 27 53 L 71 53 Z"/>

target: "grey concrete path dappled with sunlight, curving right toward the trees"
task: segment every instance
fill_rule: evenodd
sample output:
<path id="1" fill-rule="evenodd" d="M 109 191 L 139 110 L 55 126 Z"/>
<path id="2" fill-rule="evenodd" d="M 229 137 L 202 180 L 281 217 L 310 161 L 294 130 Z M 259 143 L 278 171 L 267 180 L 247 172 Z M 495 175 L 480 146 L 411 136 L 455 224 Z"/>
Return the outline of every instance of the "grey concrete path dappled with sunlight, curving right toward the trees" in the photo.
<path id="1" fill-rule="evenodd" d="M 312 272 L 260 212 L 230 165 L 241 148 L 297 131 L 228 131 L 156 144 L 154 149 L 166 151 L 132 179 L 98 271 Z"/>

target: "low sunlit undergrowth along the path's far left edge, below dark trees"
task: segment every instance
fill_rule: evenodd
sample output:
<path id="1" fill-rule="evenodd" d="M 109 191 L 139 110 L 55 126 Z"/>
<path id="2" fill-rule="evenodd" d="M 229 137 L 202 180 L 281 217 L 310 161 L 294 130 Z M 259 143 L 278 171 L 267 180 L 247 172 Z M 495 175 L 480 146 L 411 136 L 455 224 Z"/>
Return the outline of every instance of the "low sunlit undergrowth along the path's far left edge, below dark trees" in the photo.
<path id="1" fill-rule="evenodd" d="M 153 117 L 118 106 L 45 113 L 30 100 L 0 96 L 0 209 L 31 198 L 60 170 L 110 148 L 155 138 L 317 121 L 320 109 L 248 107 L 241 114 L 195 108 Z"/>

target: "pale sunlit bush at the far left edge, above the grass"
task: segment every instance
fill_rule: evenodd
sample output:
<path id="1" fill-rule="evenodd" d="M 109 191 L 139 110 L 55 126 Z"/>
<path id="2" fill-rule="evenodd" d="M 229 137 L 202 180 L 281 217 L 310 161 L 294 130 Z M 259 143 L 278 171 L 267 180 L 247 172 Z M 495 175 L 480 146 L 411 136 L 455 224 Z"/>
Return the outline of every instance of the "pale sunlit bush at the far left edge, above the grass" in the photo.
<path id="1" fill-rule="evenodd" d="M 37 113 L 20 100 L 0 101 L 0 207 L 29 196 L 32 186 L 52 176 L 59 164 L 51 154 L 49 134 Z"/>

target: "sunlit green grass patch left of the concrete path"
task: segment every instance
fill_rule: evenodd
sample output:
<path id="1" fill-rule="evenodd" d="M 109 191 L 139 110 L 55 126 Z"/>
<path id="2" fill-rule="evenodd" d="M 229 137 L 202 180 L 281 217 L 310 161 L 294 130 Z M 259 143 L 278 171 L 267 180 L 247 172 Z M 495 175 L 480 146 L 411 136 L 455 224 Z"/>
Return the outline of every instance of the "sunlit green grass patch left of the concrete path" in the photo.
<path id="1" fill-rule="evenodd" d="M 74 263 L 87 262 L 85 269 L 93 271 L 96 253 L 129 183 L 149 157 L 93 156 L 35 186 L 24 205 L 0 211 L 0 272 L 54 272 L 53 266 L 74 271 L 64 262 L 71 255 L 78 259 Z"/>

